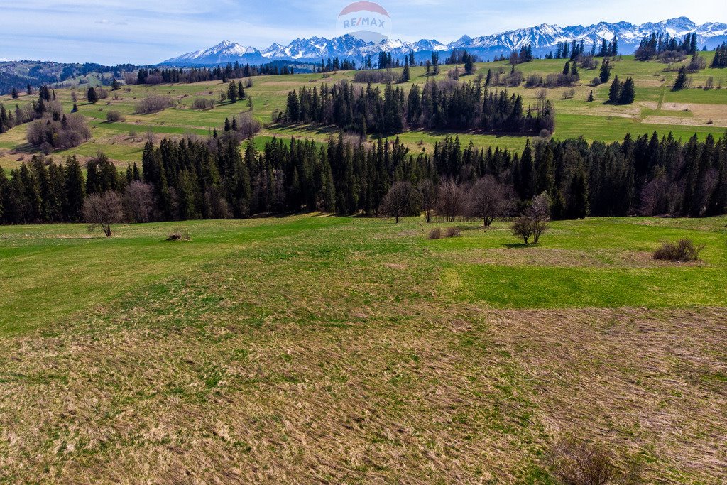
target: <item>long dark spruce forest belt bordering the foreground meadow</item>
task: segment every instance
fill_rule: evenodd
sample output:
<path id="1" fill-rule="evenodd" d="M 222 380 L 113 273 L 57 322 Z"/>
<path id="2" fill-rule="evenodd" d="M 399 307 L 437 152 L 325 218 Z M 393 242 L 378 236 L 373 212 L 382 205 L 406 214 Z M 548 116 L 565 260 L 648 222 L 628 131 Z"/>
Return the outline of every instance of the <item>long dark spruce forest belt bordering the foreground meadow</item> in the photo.
<path id="1" fill-rule="evenodd" d="M 611 144 L 534 138 L 522 153 L 463 147 L 458 137 L 432 154 L 409 153 L 398 139 L 368 143 L 344 135 L 326 144 L 273 139 L 260 152 L 252 139 L 240 143 L 229 132 L 165 139 L 147 143 L 141 167 L 119 171 L 100 154 L 87 175 L 74 157 L 57 164 L 36 155 L 9 174 L 0 169 L 0 221 L 77 222 L 87 197 L 108 192 L 119 194 L 129 222 L 316 210 L 377 215 L 396 182 L 423 192 L 409 208 L 416 214 L 436 210 L 438 197 L 464 197 L 482 177 L 507 188 L 512 204 L 503 207 L 513 214 L 541 193 L 553 201 L 555 219 L 702 217 L 727 208 L 727 137 L 680 143 L 654 134 Z"/>

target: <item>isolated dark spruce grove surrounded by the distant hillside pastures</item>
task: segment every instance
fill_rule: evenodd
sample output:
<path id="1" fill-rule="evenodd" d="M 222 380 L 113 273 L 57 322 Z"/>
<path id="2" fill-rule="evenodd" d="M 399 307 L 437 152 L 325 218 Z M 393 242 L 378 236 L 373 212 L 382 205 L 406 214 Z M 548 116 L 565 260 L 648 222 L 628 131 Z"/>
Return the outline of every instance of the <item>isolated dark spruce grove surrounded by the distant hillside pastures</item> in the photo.
<path id="1" fill-rule="evenodd" d="M 393 135 L 405 129 L 510 132 L 548 135 L 555 131 L 555 110 L 547 99 L 523 106 L 519 95 L 490 90 L 481 84 L 457 81 L 414 84 L 406 94 L 387 84 L 383 93 L 369 84 L 365 89 L 343 82 L 288 94 L 285 113 L 278 122 L 333 125 L 361 135 Z"/>

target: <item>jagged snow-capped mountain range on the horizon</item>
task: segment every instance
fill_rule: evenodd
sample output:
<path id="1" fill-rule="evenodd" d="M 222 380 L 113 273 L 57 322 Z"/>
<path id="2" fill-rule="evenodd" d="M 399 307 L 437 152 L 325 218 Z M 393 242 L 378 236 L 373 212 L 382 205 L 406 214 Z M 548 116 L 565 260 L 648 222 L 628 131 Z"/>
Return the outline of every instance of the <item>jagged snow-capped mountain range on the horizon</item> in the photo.
<path id="1" fill-rule="evenodd" d="M 594 42 L 600 43 L 601 39 L 610 41 L 614 37 L 619 40 L 619 52 L 630 54 L 638 47 L 641 39 L 644 36 L 651 35 L 651 33 L 681 37 L 692 32 L 697 34 L 700 49 L 702 46 L 712 49 L 723 41 L 727 41 L 727 24 L 710 22 L 696 25 L 686 17 L 679 17 L 642 25 L 628 22 L 601 22 L 587 27 L 582 25 L 560 27 L 559 25 L 542 24 L 536 27 L 494 33 L 489 36 L 474 38 L 462 36 L 461 39 L 449 44 L 443 44 L 434 39 L 422 39 L 417 42 L 387 39 L 379 44 L 374 44 L 345 35 L 334 39 L 325 39 L 323 37 L 295 39 L 286 46 L 276 43 L 267 49 L 259 50 L 254 47 L 245 47 L 241 44 L 223 41 L 209 49 L 189 52 L 165 60 L 161 64 L 217 65 L 228 62 L 260 64 L 276 60 L 320 63 L 321 59 L 327 59 L 328 57 L 339 57 L 340 59 L 355 60 L 361 63 L 361 60 L 367 55 L 375 58 L 379 52 L 390 52 L 394 57 L 403 57 L 411 51 L 414 52 L 417 60 L 423 60 L 430 57 L 432 52 L 449 52 L 451 49 L 456 48 L 467 49 L 470 53 L 486 59 L 501 54 L 508 55 L 513 49 L 520 49 L 527 44 L 531 44 L 536 54 L 547 54 L 557 44 L 563 42 L 585 41 L 585 44 L 590 47 Z"/>

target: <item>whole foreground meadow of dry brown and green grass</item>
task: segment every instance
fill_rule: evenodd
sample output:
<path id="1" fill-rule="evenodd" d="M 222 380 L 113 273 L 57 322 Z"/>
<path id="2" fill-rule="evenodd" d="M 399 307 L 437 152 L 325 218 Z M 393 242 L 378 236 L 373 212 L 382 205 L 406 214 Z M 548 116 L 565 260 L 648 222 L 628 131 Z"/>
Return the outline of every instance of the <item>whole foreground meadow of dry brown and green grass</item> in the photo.
<path id="1" fill-rule="evenodd" d="M 721 484 L 726 225 L 0 228 L 0 481 L 547 484 L 572 434 Z"/>

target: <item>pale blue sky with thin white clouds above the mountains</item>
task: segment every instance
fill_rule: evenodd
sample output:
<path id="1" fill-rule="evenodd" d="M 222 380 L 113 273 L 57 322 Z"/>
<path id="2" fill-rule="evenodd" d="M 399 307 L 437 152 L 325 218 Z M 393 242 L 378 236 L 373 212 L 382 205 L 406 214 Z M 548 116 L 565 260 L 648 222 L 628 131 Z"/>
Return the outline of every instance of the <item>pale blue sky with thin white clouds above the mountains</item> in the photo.
<path id="1" fill-rule="evenodd" d="M 158 63 L 229 39 L 259 49 L 336 33 L 349 1 L 23 0 L 0 7 L 0 59 Z M 632 23 L 686 16 L 727 22 L 725 0 L 379 1 L 394 37 L 451 41 L 540 23 Z"/>

